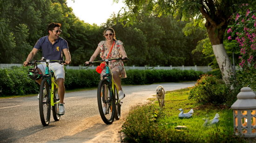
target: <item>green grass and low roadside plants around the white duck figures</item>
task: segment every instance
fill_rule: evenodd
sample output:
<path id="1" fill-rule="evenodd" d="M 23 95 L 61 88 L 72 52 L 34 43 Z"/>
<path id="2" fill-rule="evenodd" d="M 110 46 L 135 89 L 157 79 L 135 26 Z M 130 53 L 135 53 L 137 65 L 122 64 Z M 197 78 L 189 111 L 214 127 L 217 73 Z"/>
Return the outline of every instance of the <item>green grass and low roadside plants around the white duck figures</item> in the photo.
<path id="1" fill-rule="evenodd" d="M 122 126 L 125 141 L 131 143 L 243 143 L 245 140 L 233 135 L 232 110 L 226 106 L 196 105 L 188 100 L 189 89 L 167 92 L 165 107 L 160 110 L 157 100 L 153 104 L 136 106 Z M 180 111 L 194 110 L 192 118 L 178 118 Z M 214 118 L 218 113 L 219 123 L 204 127 L 202 118 Z M 175 126 L 187 126 L 176 130 Z"/>

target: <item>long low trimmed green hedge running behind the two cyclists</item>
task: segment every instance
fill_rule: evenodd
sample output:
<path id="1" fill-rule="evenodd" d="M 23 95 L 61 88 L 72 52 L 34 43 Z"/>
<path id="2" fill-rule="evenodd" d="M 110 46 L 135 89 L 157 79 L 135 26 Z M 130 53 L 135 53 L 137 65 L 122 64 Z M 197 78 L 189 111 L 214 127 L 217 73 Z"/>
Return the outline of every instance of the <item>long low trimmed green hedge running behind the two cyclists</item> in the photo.
<path id="1" fill-rule="evenodd" d="M 28 67 L 0 69 L 0 96 L 5 95 L 26 95 L 38 93 L 39 85 L 27 76 Z M 155 82 L 178 82 L 196 81 L 201 71 L 194 70 L 127 70 L 127 77 L 122 79 L 122 84 L 138 85 L 152 84 Z M 66 69 L 65 87 L 75 89 L 83 87 L 97 87 L 100 81 L 100 74 L 93 69 Z"/>

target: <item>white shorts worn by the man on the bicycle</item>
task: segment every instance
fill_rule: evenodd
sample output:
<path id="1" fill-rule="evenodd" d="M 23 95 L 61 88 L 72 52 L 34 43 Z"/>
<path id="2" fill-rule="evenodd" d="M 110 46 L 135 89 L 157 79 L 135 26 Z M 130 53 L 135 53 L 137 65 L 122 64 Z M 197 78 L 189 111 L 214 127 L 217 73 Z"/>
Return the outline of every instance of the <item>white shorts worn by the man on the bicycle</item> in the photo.
<path id="1" fill-rule="evenodd" d="M 45 75 L 45 68 L 46 68 L 46 63 L 41 62 L 41 64 L 37 65 L 38 68 L 42 71 L 42 74 Z M 63 78 L 65 79 L 65 70 L 64 70 L 64 65 L 60 64 L 58 62 L 53 62 L 49 63 L 49 71 L 53 71 L 56 79 L 58 78 Z"/>

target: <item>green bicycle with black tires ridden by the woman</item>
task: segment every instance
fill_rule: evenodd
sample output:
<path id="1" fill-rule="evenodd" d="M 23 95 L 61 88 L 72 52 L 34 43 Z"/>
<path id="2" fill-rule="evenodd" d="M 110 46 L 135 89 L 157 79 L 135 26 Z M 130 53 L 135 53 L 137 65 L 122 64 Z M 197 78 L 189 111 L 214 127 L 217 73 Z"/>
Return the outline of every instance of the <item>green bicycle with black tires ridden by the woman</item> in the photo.
<path id="1" fill-rule="evenodd" d="M 127 61 L 128 58 L 113 58 L 106 60 L 99 60 L 95 62 L 105 62 L 106 65 L 106 75 L 103 75 L 97 89 L 97 101 L 98 108 L 101 115 L 101 119 L 105 124 L 112 124 L 114 119 L 119 120 L 121 117 L 121 104 L 122 102 L 118 97 L 118 87 L 112 78 L 111 70 L 108 67 L 108 62 L 112 60 L 124 60 Z M 89 66 L 95 62 L 90 62 L 85 64 Z M 103 111 L 105 108 L 105 111 Z"/>

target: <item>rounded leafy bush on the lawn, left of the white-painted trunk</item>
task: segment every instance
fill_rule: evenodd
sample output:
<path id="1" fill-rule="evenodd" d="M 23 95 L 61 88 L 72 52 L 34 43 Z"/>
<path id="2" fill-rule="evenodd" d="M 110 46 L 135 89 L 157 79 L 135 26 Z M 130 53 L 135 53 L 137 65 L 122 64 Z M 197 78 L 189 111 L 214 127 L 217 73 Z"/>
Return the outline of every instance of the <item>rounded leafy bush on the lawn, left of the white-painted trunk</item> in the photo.
<path id="1" fill-rule="evenodd" d="M 215 75 L 202 75 L 190 90 L 189 99 L 195 99 L 201 104 L 223 104 L 226 101 L 226 91 L 227 87 L 224 82 Z"/>

